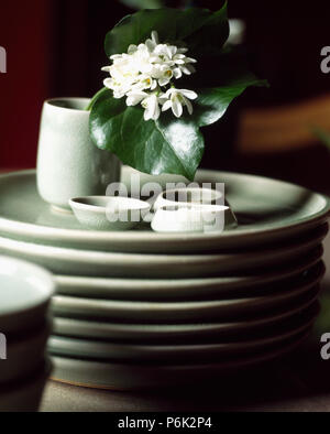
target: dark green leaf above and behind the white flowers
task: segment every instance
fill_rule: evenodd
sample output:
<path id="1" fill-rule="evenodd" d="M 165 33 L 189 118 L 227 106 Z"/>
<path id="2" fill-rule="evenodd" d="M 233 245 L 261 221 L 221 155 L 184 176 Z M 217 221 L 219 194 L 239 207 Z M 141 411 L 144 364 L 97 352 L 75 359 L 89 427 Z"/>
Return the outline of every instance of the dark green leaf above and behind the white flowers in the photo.
<path id="1" fill-rule="evenodd" d="M 229 34 L 227 4 L 218 12 L 189 8 L 178 10 L 163 8 L 142 10 L 123 18 L 106 36 L 105 50 L 108 57 L 125 53 L 131 44 L 140 44 L 156 30 L 161 42 L 187 42 L 191 52 L 215 44 L 221 48 Z"/>

